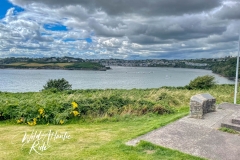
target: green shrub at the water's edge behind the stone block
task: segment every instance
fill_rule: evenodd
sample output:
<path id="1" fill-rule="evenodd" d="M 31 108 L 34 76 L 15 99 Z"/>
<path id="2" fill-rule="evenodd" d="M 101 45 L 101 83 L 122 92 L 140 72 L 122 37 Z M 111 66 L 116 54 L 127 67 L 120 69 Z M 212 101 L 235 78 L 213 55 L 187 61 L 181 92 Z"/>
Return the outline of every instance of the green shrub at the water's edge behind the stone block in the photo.
<path id="1" fill-rule="evenodd" d="M 189 89 L 209 89 L 216 84 L 214 76 L 199 76 L 190 81 Z"/>

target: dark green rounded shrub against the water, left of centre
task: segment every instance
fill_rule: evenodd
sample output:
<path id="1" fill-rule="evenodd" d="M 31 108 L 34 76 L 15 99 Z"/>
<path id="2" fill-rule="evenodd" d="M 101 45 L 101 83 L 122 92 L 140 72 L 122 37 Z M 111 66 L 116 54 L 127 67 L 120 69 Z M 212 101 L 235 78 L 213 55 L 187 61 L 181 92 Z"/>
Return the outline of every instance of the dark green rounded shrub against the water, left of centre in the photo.
<path id="1" fill-rule="evenodd" d="M 46 85 L 43 86 L 43 90 L 52 91 L 64 91 L 72 89 L 72 85 L 67 80 L 62 79 L 50 79 Z"/>

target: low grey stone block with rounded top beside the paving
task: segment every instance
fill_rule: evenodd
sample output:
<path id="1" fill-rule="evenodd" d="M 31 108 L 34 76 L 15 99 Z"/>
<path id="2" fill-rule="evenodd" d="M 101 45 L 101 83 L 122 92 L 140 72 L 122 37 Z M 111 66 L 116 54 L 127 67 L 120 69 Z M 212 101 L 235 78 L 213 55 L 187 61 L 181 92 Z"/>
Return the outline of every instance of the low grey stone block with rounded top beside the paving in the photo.
<path id="1" fill-rule="evenodd" d="M 216 98 L 208 93 L 197 94 L 190 100 L 190 117 L 203 118 L 208 112 L 216 111 Z"/>

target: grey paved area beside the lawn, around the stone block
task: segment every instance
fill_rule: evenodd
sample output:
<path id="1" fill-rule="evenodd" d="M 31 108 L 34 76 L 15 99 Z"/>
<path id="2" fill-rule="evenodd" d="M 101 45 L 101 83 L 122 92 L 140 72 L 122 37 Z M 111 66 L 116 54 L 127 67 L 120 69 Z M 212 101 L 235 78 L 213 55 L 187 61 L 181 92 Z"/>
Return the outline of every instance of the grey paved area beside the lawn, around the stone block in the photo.
<path id="1" fill-rule="evenodd" d="M 127 142 L 140 140 L 213 160 L 240 160 L 240 135 L 218 131 L 222 121 L 240 115 L 240 105 L 223 103 L 204 119 L 184 117 L 165 127 Z"/>

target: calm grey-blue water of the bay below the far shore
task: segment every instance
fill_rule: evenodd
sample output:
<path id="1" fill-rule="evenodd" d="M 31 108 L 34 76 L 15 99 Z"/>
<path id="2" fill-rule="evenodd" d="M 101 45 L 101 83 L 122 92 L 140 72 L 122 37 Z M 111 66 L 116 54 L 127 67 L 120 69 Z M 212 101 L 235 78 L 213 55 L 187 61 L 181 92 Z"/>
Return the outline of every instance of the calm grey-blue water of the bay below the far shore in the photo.
<path id="1" fill-rule="evenodd" d="M 159 88 L 185 86 L 203 75 L 214 75 L 219 84 L 234 84 L 209 70 L 152 67 L 111 67 L 108 71 L 0 69 L 0 91 L 39 91 L 49 79 L 65 78 L 73 89 Z"/>

